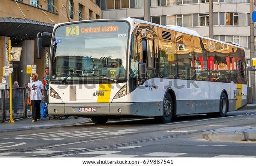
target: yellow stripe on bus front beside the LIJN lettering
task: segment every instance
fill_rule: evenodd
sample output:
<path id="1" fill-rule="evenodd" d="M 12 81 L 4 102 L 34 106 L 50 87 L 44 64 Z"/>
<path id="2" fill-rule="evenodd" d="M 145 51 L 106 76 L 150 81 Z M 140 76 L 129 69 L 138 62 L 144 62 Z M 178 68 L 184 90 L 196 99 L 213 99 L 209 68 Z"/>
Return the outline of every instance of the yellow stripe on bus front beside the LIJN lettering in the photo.
<path id="1" fill-rule="evenodd" d="M 109 103 L 111 84 L 99 84 L 97 103 Z"/>

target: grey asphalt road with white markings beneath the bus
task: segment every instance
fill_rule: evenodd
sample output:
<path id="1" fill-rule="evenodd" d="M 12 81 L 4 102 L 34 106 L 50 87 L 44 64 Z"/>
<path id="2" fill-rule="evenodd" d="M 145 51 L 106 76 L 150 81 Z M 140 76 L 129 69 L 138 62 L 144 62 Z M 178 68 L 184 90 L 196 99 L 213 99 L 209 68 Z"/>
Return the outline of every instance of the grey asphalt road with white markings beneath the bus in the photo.
<path id="1" fill-rule="evenodd" d="M 96 125 L 73 117 L 36 123 L 27 120 L 26 126 L 16 121 L 11 124 L 13 129 L 1 129 L 0 157 L 254 158 L 256 141 L 209 141 L 203 133 L 224 127 L 256 127 L 255 120 L 256 111 L 245 110 L 224 118 L 182 116 L 169 124 L 122 119 Z"/>

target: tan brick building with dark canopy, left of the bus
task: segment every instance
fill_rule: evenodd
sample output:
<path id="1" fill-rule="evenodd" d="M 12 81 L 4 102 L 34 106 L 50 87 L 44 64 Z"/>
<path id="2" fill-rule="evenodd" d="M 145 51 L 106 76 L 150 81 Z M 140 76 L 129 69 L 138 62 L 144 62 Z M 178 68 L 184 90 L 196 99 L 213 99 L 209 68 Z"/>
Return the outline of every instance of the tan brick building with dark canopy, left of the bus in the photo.
<path id="1" fill-rule="evenodd" d="M 26 73 L 27 65 L 36 65 L 40 80 L 48 66 L 49 37 L 44 39 L 42 58 L 35 57 L 38 32 L 52 32 L 56 23 L 101 18 L 98 0 L 0 0 L 0 82 L 4 66 L 9 66 L 9 40 L 12 47 L 22 48 L 20 60 L 12 61 L 12 82 L 18 81 L 23 87 L 30 77 Z M 9 88 L 9 84 L 6 76 L 5 87 Z"/>

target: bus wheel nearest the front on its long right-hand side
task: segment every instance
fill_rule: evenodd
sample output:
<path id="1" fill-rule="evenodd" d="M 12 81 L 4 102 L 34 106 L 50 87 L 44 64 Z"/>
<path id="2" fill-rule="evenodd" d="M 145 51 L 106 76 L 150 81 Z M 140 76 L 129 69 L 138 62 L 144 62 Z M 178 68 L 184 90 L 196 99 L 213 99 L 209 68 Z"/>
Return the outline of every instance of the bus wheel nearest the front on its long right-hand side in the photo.
<path id="1" fill-rule="evenodd" d="M 163 115 L 157 116 L 155 119 L 159 123 L 167 124 L 170 123 L 173 116 L 173 103 L 172 96 L 169 93 L 166 93 L 166 96 L 163 100 Z"/>

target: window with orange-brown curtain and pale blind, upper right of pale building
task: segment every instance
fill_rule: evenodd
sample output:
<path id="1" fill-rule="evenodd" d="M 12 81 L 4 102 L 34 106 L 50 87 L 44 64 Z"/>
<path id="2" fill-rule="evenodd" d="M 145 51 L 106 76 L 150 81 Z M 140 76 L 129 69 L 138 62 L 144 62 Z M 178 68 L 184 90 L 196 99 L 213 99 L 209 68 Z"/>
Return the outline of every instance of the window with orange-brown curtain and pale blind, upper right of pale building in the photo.
<path id="1" fill-rule="evenodd" d="M 226 25 L 247 26 L 247 13 L 226 13 Z"/>

